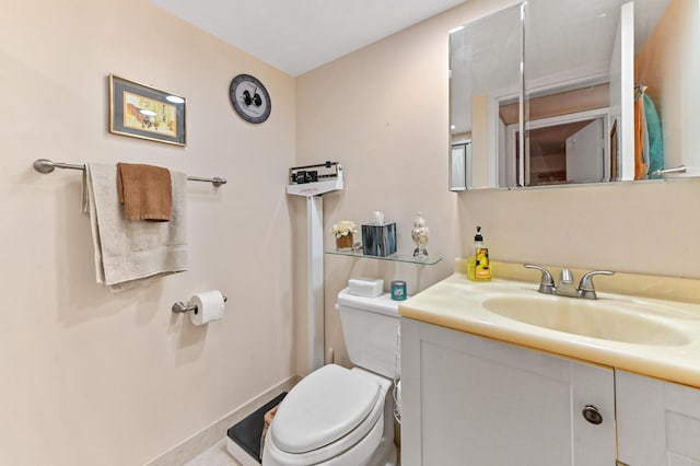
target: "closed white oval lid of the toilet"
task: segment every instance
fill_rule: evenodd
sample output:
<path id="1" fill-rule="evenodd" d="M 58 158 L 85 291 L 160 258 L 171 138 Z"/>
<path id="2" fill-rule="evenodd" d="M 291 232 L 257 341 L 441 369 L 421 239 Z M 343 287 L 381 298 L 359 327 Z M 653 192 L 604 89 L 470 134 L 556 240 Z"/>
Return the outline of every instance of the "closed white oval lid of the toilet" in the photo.
<path id="1" fill-rule="evenodd" d="M 336 364 L 324 365 L 290 391 L 272 421 L 275 444 L 305 453 L 332 443 L 368 417 L 380 385 Z"/>

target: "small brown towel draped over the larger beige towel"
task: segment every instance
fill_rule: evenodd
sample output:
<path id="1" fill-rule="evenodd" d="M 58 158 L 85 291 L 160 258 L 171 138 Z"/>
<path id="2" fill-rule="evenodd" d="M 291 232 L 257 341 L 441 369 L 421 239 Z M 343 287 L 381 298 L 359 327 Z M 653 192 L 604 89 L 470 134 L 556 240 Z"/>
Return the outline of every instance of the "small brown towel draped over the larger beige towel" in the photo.
<path id="1" fill-rule="evenodd" d="M 127 220 L 171 220 L 173 189 L 170 170 L 154 165 L 117 163 L 117 191 Z"/>

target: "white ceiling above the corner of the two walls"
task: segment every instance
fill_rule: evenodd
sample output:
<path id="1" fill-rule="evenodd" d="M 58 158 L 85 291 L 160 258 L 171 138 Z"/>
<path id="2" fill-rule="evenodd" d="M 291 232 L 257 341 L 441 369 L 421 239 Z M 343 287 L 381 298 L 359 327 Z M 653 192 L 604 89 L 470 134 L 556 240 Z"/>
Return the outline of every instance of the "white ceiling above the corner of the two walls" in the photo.
<path id="1" fill-rule="evenodd" d="M 296 77 L 467 0 L 150 1 Z"/>

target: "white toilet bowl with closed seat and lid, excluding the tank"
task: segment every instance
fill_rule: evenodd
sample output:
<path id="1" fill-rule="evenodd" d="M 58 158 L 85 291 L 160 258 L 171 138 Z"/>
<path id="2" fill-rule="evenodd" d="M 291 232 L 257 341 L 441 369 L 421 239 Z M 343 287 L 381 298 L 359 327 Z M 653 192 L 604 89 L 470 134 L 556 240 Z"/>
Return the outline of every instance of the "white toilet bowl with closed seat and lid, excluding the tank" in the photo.
<path id="1" fill-rule="evenodd" d="M 387 389 L 383 385 L 336 364 L 316 370 L 280 405 L 267 433 L 264 463 L 318 464 L 359 444 L 354 455 L 364 456 L 382 438 Z M 350 452 L 346 455 L 343 464 L 360 461 Z"/>

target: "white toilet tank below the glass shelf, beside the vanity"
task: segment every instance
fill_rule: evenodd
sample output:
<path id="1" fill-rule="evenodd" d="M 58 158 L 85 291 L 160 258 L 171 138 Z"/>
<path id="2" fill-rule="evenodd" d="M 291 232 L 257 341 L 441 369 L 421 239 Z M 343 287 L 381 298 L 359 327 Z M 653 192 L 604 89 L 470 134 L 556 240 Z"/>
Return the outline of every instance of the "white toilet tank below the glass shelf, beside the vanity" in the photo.
<path id="1" fill-rule="evenodd" d="M 389 293 L 355 296 L 346 288 L 338 293 L 336 310 L 340 313 L 350 361 L 393 378 L 398 350 L 398 302 L 392 301 Z"/>

